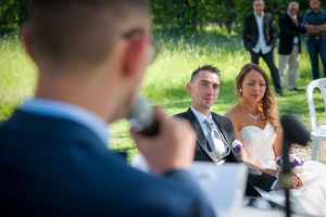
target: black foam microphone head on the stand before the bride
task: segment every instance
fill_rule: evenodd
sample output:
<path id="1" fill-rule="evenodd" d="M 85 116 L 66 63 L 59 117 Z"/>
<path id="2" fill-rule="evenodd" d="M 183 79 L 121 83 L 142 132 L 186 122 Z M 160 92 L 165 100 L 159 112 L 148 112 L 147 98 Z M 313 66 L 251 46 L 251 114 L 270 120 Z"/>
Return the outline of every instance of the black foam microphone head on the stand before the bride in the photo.
<path id="1" fill-rule="evenodd" d="M 311 140 L 310 132 L 294 115 L 283 115 L 280 124 L 284 131 L 284 139 L 288 142 L 306 145 Z"/>

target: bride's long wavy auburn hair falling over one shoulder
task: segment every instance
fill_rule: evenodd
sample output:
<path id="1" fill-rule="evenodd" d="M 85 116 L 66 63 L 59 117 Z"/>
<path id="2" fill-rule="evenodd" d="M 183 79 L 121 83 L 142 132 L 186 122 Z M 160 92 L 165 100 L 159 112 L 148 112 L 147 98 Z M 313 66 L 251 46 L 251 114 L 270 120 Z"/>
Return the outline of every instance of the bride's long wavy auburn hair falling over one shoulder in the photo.
<path id="1" fill-rule="evenodd" d="M 273 128 L 275 129 L 276 132 L 279 132 L 280 125 L 279 125 L 279 120 L 278 120 L 276 99 L 275 99 L 274 94 L 271 92 L 268 77 L 261 66 L 259 66 L 254 63 L 248 63 L 241 68 L 239 75 L 236 78 L 235 91 L 236 91 L 237 98 L 238 98 L 238 100 L 240 100 L 242 98 L 242 93 L 240 90 L 242 89 L 243 79 L 250 71 L 256 71 L 258 73 L 260 73 L 263 76 L 263 78 L 265 80 L 266 90 L 265 90 L 264 97 L 259 102 L 259 107 L 262 111 L 265 120 L 271 123 L 271 125 L 273 126 Z"/>

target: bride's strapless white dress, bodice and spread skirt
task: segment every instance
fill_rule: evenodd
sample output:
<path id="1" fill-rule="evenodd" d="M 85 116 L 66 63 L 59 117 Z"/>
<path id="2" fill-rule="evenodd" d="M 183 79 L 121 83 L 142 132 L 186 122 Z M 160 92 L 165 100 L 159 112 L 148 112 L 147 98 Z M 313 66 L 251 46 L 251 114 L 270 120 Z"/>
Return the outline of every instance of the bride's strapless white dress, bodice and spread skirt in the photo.
<path id="1" fill-rule="evenodd" d="M 269 123 L 264 129 L 246 126 L 240 130 L 240 137 L 249 159 L 269 168 L 276 168 L 273 151 L 276 133 Z M 251 170 L 251 173 L 254 171 Z M 318 162 L 305 161 L 301 179 L 303 187 L 290 191 L 293 212 L 326 216 L 326 166 Z M 284 191 L 264 192 L 261 189 L 259 191 L 263 197 L 284 205 Z"/>

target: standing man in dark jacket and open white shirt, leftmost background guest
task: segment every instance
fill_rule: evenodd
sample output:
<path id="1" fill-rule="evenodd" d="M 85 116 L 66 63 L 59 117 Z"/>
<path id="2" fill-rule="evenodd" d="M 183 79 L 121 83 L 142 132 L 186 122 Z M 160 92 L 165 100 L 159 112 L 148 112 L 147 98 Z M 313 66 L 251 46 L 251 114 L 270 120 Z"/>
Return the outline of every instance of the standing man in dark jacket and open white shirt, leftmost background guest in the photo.
<path id="1" fill-rule="evenodd" d="M 251 62 L 259 64 L 259 59 L 266 62 L 275 91 L 283 95 L 279 81 L 278 69 L 274 61 L 274 47 L 276 42 L 273 16 L 264 12 L 265 2 L 263 0 L 253 1 L 254 12 L 244 18 L 242 40 L 247 51 L 250 52 Z"/>

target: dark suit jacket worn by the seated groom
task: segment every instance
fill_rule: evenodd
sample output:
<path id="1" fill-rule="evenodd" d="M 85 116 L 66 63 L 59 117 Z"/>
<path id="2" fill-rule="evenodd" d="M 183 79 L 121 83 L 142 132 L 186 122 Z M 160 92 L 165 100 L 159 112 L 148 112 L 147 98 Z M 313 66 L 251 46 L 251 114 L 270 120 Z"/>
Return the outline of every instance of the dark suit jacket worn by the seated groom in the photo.
<path id="1" fill-rule="evenodd" d="M 234 136 L 234 128 L 231 125 L 231 122 L 224 117 L 221 116 L 216 113 L 211 113 L 212 118 L 220 128 L 222 135 L 224 136 L 225 140 L 227 141 L 227 145 L 231 150 L 229 155 L 227 155 L 224 159 L 225 162 L 229 163 L 240 163 L 242 162 L 241 158 L 238 157 L 238 155 L 234 152 L 231 149 L 231 143 L 235 140 Z M 204 132 L 200 126 L 200 123 L 198 122 L 196 115 L 189 107 L 187 112 L 185 113 L 179 113 L 176 114 L 175 117 L 180 117 L 188 119 L 196 132 L 197 136 L 197 145 L 196 145 L 196 153 L 195 153 L 195 161 L 204 161 L 204 162 L 216 162 L 213 157 L 209 150 L 208 150 L 208 140 L 204 136 Z M 259 187 L 265 191 L 271 191 L 271 187 L 274 183 L 276 179 L 269 175 L 263 174 L 263 175 L 253 175 L 249 174 L 248 176 L 248 184 L 247 184 L 247 195 L 251 196 L 259 196 L 260 194 L 254 190 L 254 187 Z"/>

